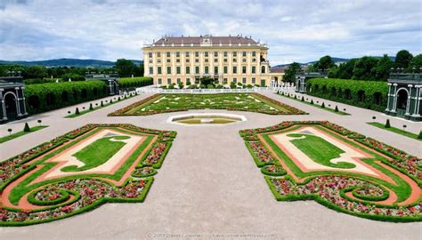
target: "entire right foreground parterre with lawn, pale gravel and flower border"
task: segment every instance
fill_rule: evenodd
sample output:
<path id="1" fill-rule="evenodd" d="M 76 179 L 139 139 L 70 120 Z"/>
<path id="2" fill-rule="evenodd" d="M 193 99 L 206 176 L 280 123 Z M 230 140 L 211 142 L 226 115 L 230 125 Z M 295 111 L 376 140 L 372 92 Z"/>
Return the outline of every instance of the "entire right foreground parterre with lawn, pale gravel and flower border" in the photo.
<path id="1" fill-rule="evenodd" d="M 329 122 L 239 133 L 279 201 L 312 199 L 371 220 L 422 220 L 422 159 Z M 318 138 L 316 144 L 336 149 L 315 152 L 309 144 Z"/>

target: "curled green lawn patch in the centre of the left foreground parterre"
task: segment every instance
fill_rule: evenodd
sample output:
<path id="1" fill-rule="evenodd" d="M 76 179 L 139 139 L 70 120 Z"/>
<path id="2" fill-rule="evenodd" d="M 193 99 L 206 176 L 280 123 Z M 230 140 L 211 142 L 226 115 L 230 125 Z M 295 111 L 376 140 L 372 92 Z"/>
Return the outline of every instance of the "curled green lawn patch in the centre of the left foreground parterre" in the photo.
<path id="1" fill-rule="evenodd" d="M 78 151 L 73 156 L 85 165 L 77 167 L 76 165 L 66 166 L 61 169 L 62 172 L 81 172 L 92 169 L 107 162 L 111 156 L 115 155 L 120 148 L 126 145 L 119 140 L 129 139 L 128 136 L 113 136 L 95 140 L 92 144 Z"/>

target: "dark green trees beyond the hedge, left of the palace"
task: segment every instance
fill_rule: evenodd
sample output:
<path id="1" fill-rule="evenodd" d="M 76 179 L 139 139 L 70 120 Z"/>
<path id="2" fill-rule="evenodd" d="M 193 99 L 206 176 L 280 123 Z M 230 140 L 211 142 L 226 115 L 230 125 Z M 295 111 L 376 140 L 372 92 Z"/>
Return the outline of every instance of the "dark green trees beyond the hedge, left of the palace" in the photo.
<path id="1" fill-rule="evenodd" d="M 117 60 L 113 68 L 77 68 L 77 67 L 53 67 L 23 66 L 23 65 L 0 65 L 0 76 L 7 76 L 9 71 L 20 72 L 26 84 L 43 84 L 61 81 L 84 81 L 86 71 L 90 72 L 118 72 L 118 76 L 143 76 L 143 65 L 136 65 L 132 60 Z M 53 76 L 53 78 L 52 78 Z"/>

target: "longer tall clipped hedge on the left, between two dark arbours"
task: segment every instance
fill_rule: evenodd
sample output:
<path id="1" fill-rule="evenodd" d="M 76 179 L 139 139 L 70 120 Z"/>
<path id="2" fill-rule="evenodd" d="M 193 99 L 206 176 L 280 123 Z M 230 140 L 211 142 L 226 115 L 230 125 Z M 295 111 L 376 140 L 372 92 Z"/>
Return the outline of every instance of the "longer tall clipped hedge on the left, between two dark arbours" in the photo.
<path id="1" fill-rule="evenodd" d="M 108 95 L 102 81 L 81 81 L 25 86 L 25 98 L 29 114 L 37 114 L 57 108 L 96 100 Z"/>

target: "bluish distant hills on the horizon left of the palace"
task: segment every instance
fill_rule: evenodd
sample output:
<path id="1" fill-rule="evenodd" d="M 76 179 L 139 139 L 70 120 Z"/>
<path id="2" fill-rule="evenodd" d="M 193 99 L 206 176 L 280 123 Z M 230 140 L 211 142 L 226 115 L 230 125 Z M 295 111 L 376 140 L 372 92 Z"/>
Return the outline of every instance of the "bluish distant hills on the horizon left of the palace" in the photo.
<path id="1" fill-rule="evenodd" d="M 142 64 L 142 60 L 132 60 L 134 64 Z M 44 66 L 44 67 L 79 67 L 79 68 L 111 68 L 115 61 L 110 60 L 77 60 L 77 59 L 59 59 L 59 60 L 0 60 L 0 64 L 17 64 L 24 66 Z"/>

